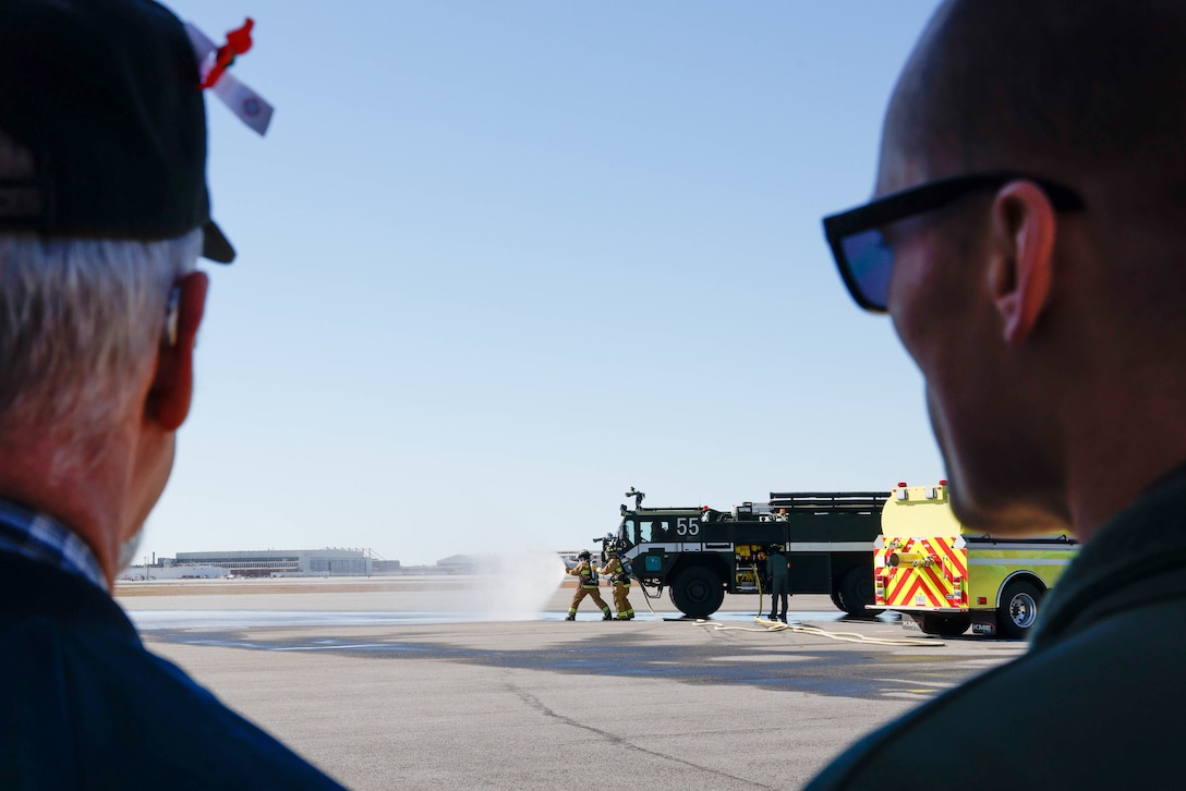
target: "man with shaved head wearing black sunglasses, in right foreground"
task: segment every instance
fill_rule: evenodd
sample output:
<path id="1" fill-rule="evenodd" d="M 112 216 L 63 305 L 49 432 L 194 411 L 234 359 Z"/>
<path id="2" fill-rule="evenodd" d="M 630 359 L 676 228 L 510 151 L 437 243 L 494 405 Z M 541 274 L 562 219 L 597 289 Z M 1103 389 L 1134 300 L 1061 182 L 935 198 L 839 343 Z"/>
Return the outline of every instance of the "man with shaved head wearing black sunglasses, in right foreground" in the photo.
<path id="1" fill-rule="evenodd" d="M 1181 783 L 1186 4 L 954 0 L 886 114 L 876 198 L 824 221 L 926 378 L 961 522 L 1083 548 L 1025 656 L 812 789 Z"/>

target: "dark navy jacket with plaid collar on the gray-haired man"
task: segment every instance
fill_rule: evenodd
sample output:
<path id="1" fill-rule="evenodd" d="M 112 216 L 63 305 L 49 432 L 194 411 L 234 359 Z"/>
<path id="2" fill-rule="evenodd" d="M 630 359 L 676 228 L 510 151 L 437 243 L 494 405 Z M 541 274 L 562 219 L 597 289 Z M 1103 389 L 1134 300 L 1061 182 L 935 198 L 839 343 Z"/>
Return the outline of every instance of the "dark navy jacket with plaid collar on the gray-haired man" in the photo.
<path id="1" fill-rule="evenodd" d="M 55 550 L 72 542 L 21 511 L 0 509 L 0 789 L 342 787 L 149 653 L 102 578 Z"/>

